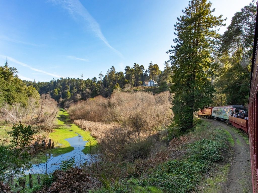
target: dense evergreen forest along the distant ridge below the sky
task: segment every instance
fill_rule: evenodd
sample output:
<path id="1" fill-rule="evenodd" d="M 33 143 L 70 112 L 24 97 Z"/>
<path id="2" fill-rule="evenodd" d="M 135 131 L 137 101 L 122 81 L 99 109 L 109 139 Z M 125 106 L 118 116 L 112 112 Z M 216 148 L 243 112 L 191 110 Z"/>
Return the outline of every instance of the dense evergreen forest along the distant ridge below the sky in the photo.
<path id="1" fill-rule="evenodd" d="M 80 99 L 94 98 L 101 95 L 109 97 L 114 89 L 141 86 L 146 80 L 154 80 L 161 85 L 160 90 L 168 90 L 170 84 L 171 68 L 165 63 L 164 71 L 159 69 L 157 64 L 150 62 L 148 70 L 143 65 L 134 63 L 133 67 L 126 66 L 124 72 L 116 72 L 114 66 L 108 69 L 106 74 L 99 73 L 92 79 L 80 78 L 54 78 L 50 82 L 23 81 L 27 86 L 33 86 L 39 94 L 50 93 L 52 98 L 63 104 L 72 97 L 74 101 Z"/>

